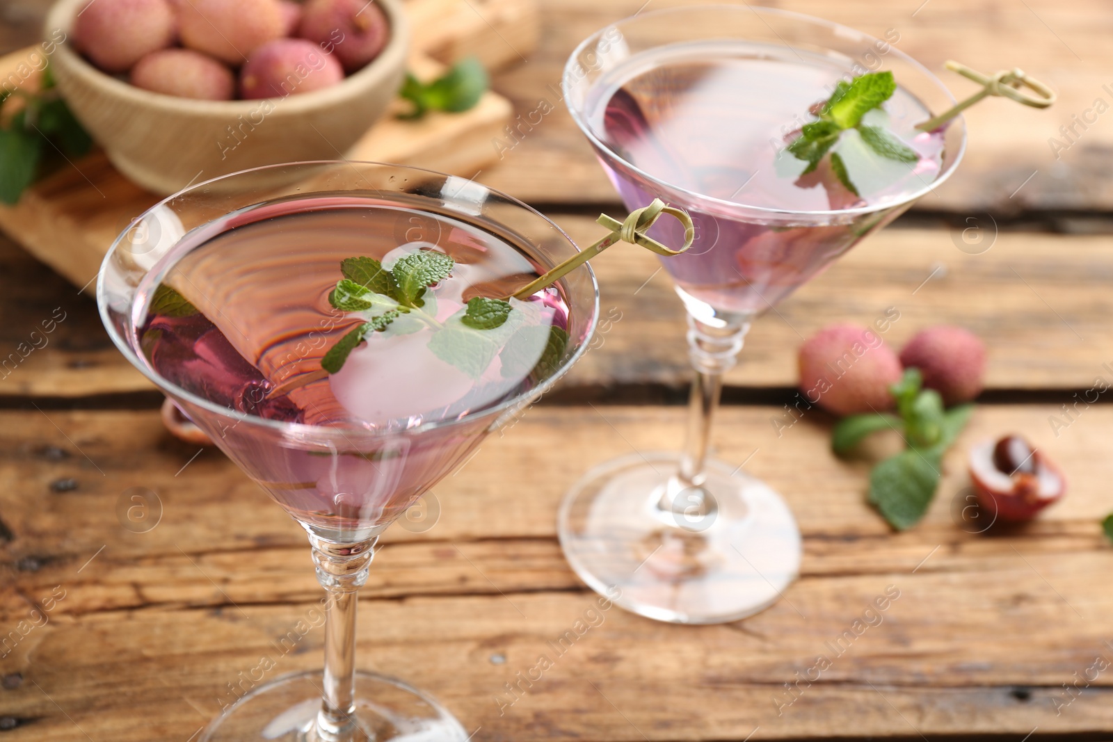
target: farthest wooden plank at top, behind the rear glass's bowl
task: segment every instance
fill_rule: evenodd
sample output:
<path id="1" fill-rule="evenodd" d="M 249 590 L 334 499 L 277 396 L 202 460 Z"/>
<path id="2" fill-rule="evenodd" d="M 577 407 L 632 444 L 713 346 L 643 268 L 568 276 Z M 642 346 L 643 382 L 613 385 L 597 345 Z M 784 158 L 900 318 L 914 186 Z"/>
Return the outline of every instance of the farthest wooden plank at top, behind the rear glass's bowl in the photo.
<path id="1" fill-rule="evenodd" d="M 526 125 L 524 136 L 519 137 L 521 144 L 501 137 L 503 146 L 512 146 L 509 151 L 492 142 L 504 154 L 502 164 L 484 176 L 492 186 L 544 204 L 617 200 L 560 102 L 559 88 L 563 65 L 575 46 L 642 4 L 642 0 L 542 2 L 546 33 L 538 51 L 529 65 L 499 76 L 496 88 L 514 101 L 523 117 L 536 110 L 542 98 L 555 110 L 535 127 Z M 682 3 L 654 2 L 649 9 L 670 4 Z M 1082 117 L 1095 99 L 1103 99 L 1106 107 L 1113 105 L 1113 92 L 1103 88 L 1110 82 L 1111 66 L 1105 29 L 1113 11 L 1107 3 L 932 0 L 918 8 L 919 3 L 879 7 L 870 0 L 836 4 L 787 0 L 758 4 L 819 16 L 879 37 L 894 29 L 900 36 L 897 48 L 939 75 L 958 97 L 971 95 L 973 86 L 943 69 L 947 59 L 987 73 L 1020 66 L 1058 91 L 1058 102 L 1046 111 L 1022 109 L 1003 100 L 971 109 L 966 115 L 969 146 L 965 162 L 938 196 L 926 197 L 919 208 L 969 215 L 987 209 L 1107 210 L 1113 206 L 1113 180 L 1107 175 L 1113 169 L 1113 126 L 1106 117 L 1086 113 L 1096 122 L 1085 125 L 1086 130 L 1076 127 L 1078 136 L 1072 137 L 1076 144 L 1060 152 L 1061 158 L 1048 145 L 1053 137 L 1067 142 L 1060 126 L 1071 126 L 1072 115 Z"/>

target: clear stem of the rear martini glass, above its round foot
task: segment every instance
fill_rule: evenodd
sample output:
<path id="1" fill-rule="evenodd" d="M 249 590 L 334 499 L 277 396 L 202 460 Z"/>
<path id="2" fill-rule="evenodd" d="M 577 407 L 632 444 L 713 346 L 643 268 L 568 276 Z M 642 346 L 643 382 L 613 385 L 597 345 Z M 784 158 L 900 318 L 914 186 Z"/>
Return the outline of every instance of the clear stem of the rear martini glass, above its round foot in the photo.
<path id="1" fill-rule="evenodd" d="M 711 445 L 711 426 L 722 394 L 722 375 L 737 363 L 749 328 L 748 321 L 710 325 L 688 315 L 688 355 L 696 369 L 696 378 L 688 403 L 688 433 L 680 471 L 669 482 L 659 505 L 662 509 L 698 517 L 708 515 L 713 507 L 706 502 L 706 493 L 701 489 Z"/>

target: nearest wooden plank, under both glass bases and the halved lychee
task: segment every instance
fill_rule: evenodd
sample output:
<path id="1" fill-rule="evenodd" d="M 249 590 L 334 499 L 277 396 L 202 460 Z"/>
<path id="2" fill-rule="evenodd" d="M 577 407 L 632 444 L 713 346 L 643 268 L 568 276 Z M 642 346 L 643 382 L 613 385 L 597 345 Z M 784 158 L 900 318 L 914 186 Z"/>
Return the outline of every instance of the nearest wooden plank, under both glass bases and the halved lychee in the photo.
<path id="1" fill-rule="evenodd" d="M 952 521 L 961 453 L 945 462 L 926 522 L 894 535 L 863 502 L 865 465 L 827 453 L 827 423 L 805 417 L 777 438 L 767 423 L 776 413 L 728 408 L 717 436 L 728 461 L 757 448 L 746 469 L 785 495 L 805 532 L 804 577 L 770 610 L 705 627 L 598 611 L 559 561 L 556 503 L 582 468 L 660 447 L 682 410 L 542 406 L 436 488 L 435 527 L 388 532 L 363 601 L 361 664 L 431 691 L 475 740 L 1113 731 L 1107 673 L 1073 701 L 1062 686 L 1096 655 L 1113 656 L 1113 596 L 1095 587 L 1113 567 L 1097 526 L 1113 474 L 1113 443 L 1100 433 L 1113 409 L 1086 412 L 1056 438 L 1054 407 L 979 408 L 959 452 L 1018 431 L 1072 483 L 1036 523 L 985 535 Z M 0 452 L 0 514 L 13 536 L 0 546 L 11 575 L 0 629 L 65 591 L 47 625 L 0 659 L 0 676 L 18 683 L 0 691 L 0 714 L 19 723 L 12 740 L 186 740 L 218 712 L 228 682 L 298 620 L 314 621 L 319 593 L 297 527 L 218 455 L 176 475 L 193 452 L 160 433 L 154 413 L 2 413 Z M 76 489 L 48 491 L 67 476 Z M 162 497 L 154 531 L 116 522 L 128 486 Z M 880 623 L 854 634 L 886 590 L 899 595 Z M 585 615 L 595 625 L 554 650 Z M 317 629 L 274 657 L 270 676 L 316 667 L 319 652 Z M 516 700 L 504 695 L 542 654 L 553 666 Z M 785 683 L 818 655 L 830 666 L 794 698 Z"/>

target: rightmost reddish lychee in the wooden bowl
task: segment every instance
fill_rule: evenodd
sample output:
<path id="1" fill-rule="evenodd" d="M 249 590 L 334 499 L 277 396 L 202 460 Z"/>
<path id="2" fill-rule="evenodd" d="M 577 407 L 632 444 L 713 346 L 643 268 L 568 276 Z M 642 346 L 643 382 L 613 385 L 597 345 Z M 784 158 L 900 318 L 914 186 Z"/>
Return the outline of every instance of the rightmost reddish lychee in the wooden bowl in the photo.
<path id="1" fill-rule="evenodd" d="M 348 72 L 378 56 L 386 46 L 386 16 L 366 0 L 309 0 L 297 34 L 335 53 Z"/>

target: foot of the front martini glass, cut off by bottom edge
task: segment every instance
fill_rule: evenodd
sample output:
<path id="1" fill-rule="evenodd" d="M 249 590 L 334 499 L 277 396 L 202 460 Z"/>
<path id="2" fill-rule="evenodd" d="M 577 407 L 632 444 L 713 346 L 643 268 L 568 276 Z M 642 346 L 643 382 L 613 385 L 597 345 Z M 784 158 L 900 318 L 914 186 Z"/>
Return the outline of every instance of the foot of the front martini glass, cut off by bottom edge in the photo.
<path id="1" fill-rule="evenodd" d="M 289 675 L 263 685 L 232 705 L 205 730 L 200 742 L 325 742 L 316 732 L 322 673 Z M 356 673 L 357 731 L 345 742 L 466 742 L 460 722 L 441 704 L 402 681 Z"/>

